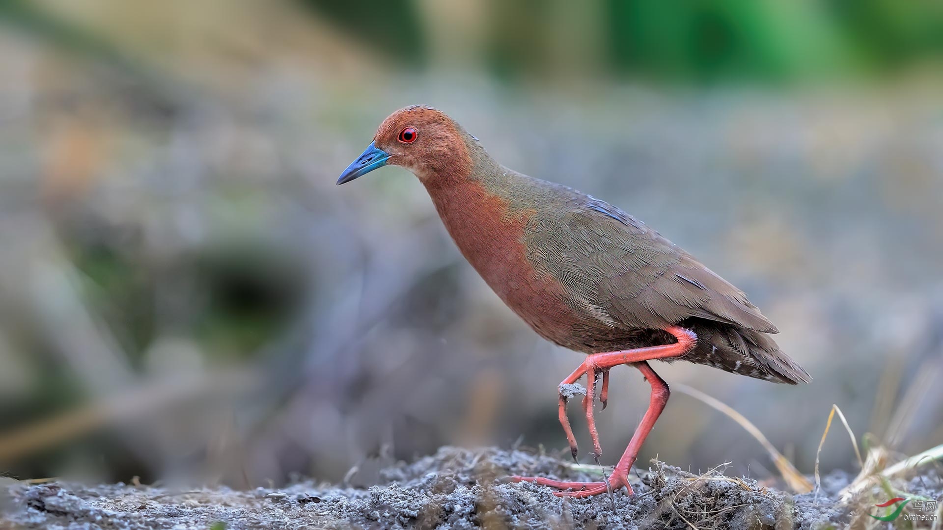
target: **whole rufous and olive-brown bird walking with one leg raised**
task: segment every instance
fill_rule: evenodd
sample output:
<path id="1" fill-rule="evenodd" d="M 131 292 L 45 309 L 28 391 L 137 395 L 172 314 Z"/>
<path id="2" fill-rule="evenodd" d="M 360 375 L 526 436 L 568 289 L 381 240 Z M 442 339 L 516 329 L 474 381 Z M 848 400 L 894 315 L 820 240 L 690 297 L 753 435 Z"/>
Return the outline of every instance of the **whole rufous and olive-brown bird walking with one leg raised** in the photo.
<path id="1" fill-rule="evenodd" d="M 608 402 L 609 371 L 633 366 L 651 387 L 648 409 L 604 481 L 510 480 L 563 497 L 620 488 L 632 495 L 629 472 L 670 396 L 653 360 L 683 359 L 790 385 L 811 380 L 779 349 L 770 337 L 778 329 L 742 290 L 620 208 L 506 168 L 437 108 L 390 114 L 337 184 L 389 165 L 419 178 L 458 250 L 505 305 L 539 336 L 586 355 L 557 388 L 574 459 L 572 385 L 586 375 L 583 409 L 597 462 L 602 448 L 593 407 L 597 397 L 603 409 Z"/>

